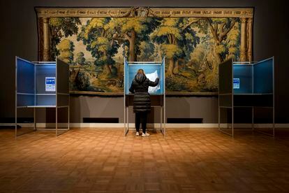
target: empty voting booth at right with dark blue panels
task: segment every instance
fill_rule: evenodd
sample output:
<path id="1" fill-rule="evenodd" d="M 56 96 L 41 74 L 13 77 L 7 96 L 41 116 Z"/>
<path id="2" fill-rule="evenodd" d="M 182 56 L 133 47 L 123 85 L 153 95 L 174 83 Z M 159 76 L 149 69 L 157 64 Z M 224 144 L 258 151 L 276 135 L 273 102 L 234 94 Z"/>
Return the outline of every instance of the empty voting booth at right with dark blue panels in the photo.
<path id="1" fill-rule="evenodd" d="M 231 128 L 221 127 L 221 109 L 230 109 Z M 253 131 L 274 136 L 274 57 L 260 62 L 233 62 L 229 59 L 218 66 L 218 129 L 234 136 L 234 108 L 251 108 Z M 254 128 L 255 108 L 272 110 L 269 133 Z"/>

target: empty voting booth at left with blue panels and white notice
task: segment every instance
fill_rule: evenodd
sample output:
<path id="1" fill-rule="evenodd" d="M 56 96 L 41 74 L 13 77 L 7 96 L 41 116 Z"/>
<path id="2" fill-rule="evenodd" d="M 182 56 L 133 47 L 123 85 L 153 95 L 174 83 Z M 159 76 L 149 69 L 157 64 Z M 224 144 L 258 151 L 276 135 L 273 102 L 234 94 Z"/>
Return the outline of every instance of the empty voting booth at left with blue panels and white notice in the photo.
<path id="1" fill-rule="evenodd" d="M 55 108 L 56 135 L 69 129 L 69 66 L 57 59 L 56 62 L 29 62 L 20 57 L 15 59 L 15 135 L 26 134 L 17 129 L 17 111 L 32 108 L 34 126 L 27 131 L 36 131 L 36 109 Z M 68 122 L 65 128 L 59 128 L 58 109 L 66 108 Z M 22 131 L 20 131 L 22 130 Z M 38 129 L 41 130 L 41 129 Z M 43 129 L 42 129 L 43 130 Z"/>

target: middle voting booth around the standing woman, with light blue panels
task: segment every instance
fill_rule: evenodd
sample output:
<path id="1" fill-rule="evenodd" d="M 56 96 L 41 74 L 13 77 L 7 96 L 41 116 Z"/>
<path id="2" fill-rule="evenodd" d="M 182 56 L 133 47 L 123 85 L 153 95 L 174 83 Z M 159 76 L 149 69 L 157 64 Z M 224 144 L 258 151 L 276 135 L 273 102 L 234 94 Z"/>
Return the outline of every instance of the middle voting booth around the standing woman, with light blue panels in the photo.
<path id="1" fill-rule="evenodd" d="M 149 87 L 151 106 L 161 109 L 160 129 L 165 135 L 165 59 L 161 62 L 127 62 L 124 59 L 124 135 L 129 130 L 129 106 L 133 106 L 133 94 L 129 92 L 131 83 L 135 78 L 138 69 L 143 69 L 149 80 L 159 78 L 156 87 Z"/>

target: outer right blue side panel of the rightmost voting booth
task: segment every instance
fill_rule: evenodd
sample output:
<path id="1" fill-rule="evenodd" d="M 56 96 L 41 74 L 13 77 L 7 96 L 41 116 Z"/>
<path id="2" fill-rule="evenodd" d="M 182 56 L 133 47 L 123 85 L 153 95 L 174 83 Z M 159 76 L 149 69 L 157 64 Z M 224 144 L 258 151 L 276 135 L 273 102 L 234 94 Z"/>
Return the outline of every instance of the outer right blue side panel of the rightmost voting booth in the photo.
<path id="1" fill-rule="evenodd" d="M 273 92 L 273 62 L 273 58 L 270 58 L 254 65 L 254 93 Z"/>

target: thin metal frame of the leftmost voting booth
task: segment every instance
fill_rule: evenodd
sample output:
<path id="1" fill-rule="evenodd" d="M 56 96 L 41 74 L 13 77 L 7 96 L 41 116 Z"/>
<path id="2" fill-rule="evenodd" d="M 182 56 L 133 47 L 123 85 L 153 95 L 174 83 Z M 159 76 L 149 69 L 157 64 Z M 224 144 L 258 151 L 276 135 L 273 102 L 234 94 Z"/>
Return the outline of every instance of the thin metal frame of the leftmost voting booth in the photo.
<path id="1" fill-rule="evenodd" d="M 17 59 L 20 59 L 24 62 L 29 62 L 30 64 L 34 64 L 34 94 L 30 94 L 30 93 L 22 93 L 22 92 L 17 92 Z M 66 131 L 68 131 L 70 129 L 70 94 L 69 94 L 69 80 L 68 80 L 68 93 L 64 93 L 64 92 L 58 92 L 58 78 L 57 78 L 57 61 L 61 61 L 60 59 L 57 59 L 55 62 L 30 62 L 27 59 L 22 59 L 20 57 L 15 57 L 15 138 L 17 138 L 17 136 L 22 136 L 24 134 L 29 134 L 33 131 L 55 131 L 55 135 L 59 136 L 61 134 L 64 134 Z M 61 61 L 63 62 L 63 61 Z M 65 62 L 64 62 L 65 63 Z M 55 66 L 55 94 L 36 94 L 36 66 L 38 65 L 46 65 L 46 66 Z M 68 65 L 68 64 L 67 64 Z M 68 71 L 69 72 L 69 71 Z M 69 75 L 68 75 L 69 77 Z M 22 95 L 34 95 L 34 106 L 17 106 L 17 94 L 22 94 Z M 42 105 L 42 106 L 37 106 L 36 105 L 36 95 L 37 96 L 55 96 L 55 105 L 54 106 L 47 106 L 47 105 Z M 58 100 L 57 100 L 57 96 L 58 95 L 65 95 L 68 96 L 68 105 L 65 106 L 58 106 Z M 34 122 L 33 122 L 33 130 L 32 131 L 28 131 L 22 134 L 17 134 L 17 110 L 18 108 L 33 108 L 34 109 Z M 38 129 L 37 128 L 37 122 L 36 122 L 36 109 L 37 108 L 55 108 L 55 129 Z M 67 108 L 68 111 L 68 127 L 66 129 L 59 129 L 58 128 L 58 109 L 59 108 Z M 61 132 L 59 132 L 61 131 Z"/>

